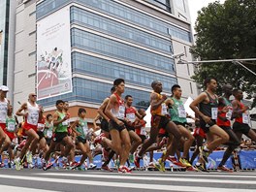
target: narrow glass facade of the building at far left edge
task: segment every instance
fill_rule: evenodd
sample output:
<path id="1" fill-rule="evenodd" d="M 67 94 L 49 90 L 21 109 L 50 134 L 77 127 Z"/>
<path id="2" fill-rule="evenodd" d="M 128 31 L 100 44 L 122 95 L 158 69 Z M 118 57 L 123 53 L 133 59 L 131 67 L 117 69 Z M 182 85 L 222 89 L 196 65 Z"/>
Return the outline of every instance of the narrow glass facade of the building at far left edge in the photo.
<path id="1" fill-rule="evenodd" d="M 0 85 L 7 84 L 10 1 L 0 1 Z"/>

